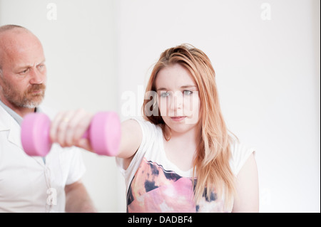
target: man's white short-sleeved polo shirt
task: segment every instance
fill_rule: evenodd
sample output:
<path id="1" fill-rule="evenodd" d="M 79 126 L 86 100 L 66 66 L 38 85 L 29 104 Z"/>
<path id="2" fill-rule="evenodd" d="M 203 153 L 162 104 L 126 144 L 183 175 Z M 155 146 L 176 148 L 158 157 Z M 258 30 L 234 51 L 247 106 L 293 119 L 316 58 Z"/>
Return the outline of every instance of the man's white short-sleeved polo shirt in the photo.
<path id="1" fill-rule="evenodd" d="M 80 149 L 53 144 L 44 162 L 24 152 L 20 134 L 19 121 L 0 105 L 0 212 L 64 212 L 64 187 L 85 172 Z"/>

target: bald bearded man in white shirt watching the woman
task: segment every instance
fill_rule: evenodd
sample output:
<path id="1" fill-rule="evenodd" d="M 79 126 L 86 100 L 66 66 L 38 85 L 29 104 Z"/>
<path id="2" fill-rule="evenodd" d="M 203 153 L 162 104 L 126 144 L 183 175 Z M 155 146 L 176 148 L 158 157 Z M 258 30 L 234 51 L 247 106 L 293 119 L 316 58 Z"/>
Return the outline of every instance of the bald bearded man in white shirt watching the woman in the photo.
<path id="1" fill-rule="evenodd" d="M 44 157 L 21 146 L 20 124 L 46 90 L 43 47 L 21 26 L 0 26 L 0 212 L 96 212 L 81 183 L 85 168 L 76 148 L 54 144 Z"/>

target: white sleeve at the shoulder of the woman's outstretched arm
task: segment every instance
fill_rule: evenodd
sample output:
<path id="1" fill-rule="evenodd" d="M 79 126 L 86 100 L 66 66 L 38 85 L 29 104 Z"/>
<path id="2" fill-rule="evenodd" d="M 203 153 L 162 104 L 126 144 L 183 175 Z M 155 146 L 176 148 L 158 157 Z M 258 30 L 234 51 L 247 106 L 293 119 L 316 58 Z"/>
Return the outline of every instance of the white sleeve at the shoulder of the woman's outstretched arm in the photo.
<path id="1" fill-rule="evenodd" d="M 129 186 L 128 184 L 135 175 L 144 155 L 146 154 L 146 152 L 151 151 L 153 149 L 153 144 L 157 137 L 156 125 L 153 125 L 151 122 L 148 122 L 140 118 L 133 118 L 133 120 L 136 120 L 138 124 L 141 126 L 141 145 L 139 146 L 135 156 L 131 160 L 131 164 L 129 164 L 127 169 L 123 169 L 123 159 L 116 157 L 116 164 L 118 166 L 118 169 L 120 169 L 121 174 L 123 174 L 123 176 L 125 177 L 127 189 Z"/>

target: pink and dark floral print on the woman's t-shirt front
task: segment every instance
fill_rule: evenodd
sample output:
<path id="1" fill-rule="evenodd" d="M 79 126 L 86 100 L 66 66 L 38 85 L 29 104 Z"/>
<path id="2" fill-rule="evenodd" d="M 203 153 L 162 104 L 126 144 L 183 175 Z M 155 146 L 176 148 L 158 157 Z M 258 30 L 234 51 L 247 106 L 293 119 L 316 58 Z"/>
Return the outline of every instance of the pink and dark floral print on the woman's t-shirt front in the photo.
<path id="1" fill-rule="evenodd" d="M 206 190 L 205 190 L 206 191 Z M 127 195 L 127 211 L 147 212 L 224 212 L 223 201 L 212 192 L 195 204 L 193 181 L 174 171 L 167 171 L 156 162 L 143 158 Z"/>

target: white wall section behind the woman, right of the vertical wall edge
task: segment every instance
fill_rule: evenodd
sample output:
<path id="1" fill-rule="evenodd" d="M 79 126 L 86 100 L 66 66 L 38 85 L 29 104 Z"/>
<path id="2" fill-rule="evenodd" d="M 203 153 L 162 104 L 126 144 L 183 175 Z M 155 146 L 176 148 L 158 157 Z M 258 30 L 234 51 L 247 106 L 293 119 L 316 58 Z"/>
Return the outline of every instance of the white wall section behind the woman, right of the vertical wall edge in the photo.
<path id="1" fill-rule="evenodd" d="M 260 211 L 320 212 L 318 2 L 121 0 L 119 94 L 132 90 L 141 105 L 141 86 L 162 51 L 180 43 L 202 49 L 230 130 L 257 147 Z"/>

